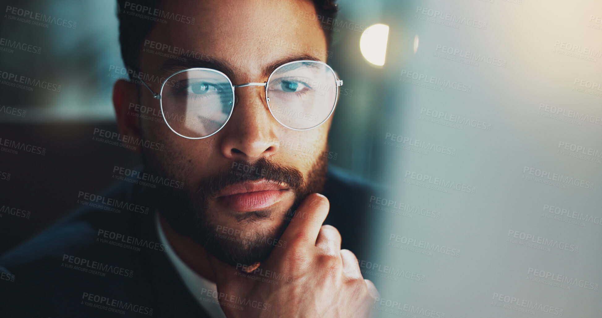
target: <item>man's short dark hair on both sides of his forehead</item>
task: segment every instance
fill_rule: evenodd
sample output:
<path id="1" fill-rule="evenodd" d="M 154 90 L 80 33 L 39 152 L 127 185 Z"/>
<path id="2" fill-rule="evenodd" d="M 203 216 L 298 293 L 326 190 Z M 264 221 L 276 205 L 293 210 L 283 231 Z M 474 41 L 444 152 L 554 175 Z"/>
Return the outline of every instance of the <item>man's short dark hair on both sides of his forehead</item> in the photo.
<path id="1" fill-rule="evenodd" d="M 144 37 L 151 31 L 152 26 L 157 23 L 149 18 L 152 15 L 146 14 L 146 10 L 156 10 L 160 5 L 160 0 L 134 0 L 135 3 L 126 0 L 117 0 L 117 19 L 119 19 L 119 45 L 121 46 L 121 56 L 126 68 L 138 71 L 138 54 Z M 332 42 L 332 25 L 337 15 L 336 0 L 312 0 L 315 7 L 315 13 L 320 17 L 320 24 L 324 35 L 326 36 L 326 49 L 330 49 Z M 129 10 L 132 5 L 143 7 L 140 10 Z M 133 14 L 132 14 L 133 13 Z M 138 16 L 136 16 L 138 14 Z M 132 73 L 129 72 L 130 77 Z"/>

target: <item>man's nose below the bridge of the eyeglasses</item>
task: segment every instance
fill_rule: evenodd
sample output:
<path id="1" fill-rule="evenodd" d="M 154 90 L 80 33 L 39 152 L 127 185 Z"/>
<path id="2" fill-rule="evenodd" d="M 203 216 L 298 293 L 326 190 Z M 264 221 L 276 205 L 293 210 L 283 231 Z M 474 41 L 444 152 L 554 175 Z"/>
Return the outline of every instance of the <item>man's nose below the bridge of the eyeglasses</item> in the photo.
<path id="1" fill-rule="evenodd" d="M 228 159 L 253 161 L 278 151 L 276 129 L 279 124 L 265 103 L 264 86 L 244 86 L 235 86 L 238 88 L 234 110 L 220 131 L 223 132 L 220 150 Z"/>

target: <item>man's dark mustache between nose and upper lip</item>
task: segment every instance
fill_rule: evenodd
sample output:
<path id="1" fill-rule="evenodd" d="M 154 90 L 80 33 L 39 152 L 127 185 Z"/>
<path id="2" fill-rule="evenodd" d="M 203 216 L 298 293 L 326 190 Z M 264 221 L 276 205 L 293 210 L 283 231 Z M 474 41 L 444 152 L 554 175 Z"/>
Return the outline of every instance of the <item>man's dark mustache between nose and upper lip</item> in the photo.
<path id="1" fill-rule="evenodd" d="M 228 186 L 253 180 L 283 184 L 294 190 L 305 186 L 301 171 L 261 157 L 255 162 L 241 159 L 232 161 L 217 173 L 201 180 L 197 187 L 197 194 L 202 193 L 205 197 L 214 197 Z"/>

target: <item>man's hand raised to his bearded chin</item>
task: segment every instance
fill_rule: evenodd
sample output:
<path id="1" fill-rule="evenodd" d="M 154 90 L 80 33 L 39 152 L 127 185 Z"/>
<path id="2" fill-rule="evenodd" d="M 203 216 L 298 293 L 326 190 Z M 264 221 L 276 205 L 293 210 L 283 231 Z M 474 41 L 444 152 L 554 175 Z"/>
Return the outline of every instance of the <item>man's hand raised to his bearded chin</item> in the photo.
<path id="1" fill-rule="evenodd" d="M 211 259 L 222 295 L 219 301 L 228 318 L 372 316 L 378 291 L 362 278 L 355 255 L 341 250 L 337 229 L 321 225 L 328 211 L 326 197 L 310 194 L 282 234 L 286 246 L 276 246 L 249 274 Z"/>

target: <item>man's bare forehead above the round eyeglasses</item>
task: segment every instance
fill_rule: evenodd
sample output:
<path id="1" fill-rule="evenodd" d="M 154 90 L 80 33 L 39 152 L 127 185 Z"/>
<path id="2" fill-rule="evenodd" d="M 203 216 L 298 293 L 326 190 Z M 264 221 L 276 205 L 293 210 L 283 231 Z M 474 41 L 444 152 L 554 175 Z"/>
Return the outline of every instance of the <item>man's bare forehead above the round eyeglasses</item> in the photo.
<path id="1" fill-rule="evenodd" d="M 223 61 L 237 80 L 248 80 L 261 74 L 266 65 L 289 56 L 306 54 L 326 62 L 326 37 L 311 1 L 163 1 L 161 10 L 194 18 L 194 24 L 156 22 L 145 46 L 149 41 L 160 42 L 160 48 L 169 45 L 163 50 L 170 52 L 157 54 L 157 45 L 155 54 L 143 50 L 142 68 L 157 71 L 166 55 L 189 52 L 190 60 L 200 56 Z"/>

